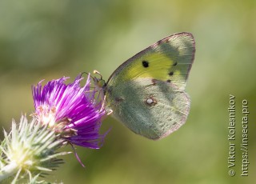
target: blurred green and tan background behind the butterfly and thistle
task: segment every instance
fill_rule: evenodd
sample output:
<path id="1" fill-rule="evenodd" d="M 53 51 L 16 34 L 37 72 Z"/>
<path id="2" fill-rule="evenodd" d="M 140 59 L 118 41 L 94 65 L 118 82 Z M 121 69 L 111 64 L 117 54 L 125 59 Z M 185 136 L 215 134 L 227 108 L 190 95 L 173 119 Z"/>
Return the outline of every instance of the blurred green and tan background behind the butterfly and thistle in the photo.
<path id="1" fill-rule="evenodd" d="M 158 142 L 112 127 L 100 150 L 78 148 L 49 177 L 64 183 L 254 183 L 256 173 L 256 1 L 1 1 L 0 124 L 34 110 L 30 87 L 42 79 L 98 70 L 104 78 L 167 35 L 194 34 L 185 126 Z M 228 175 L 229 95 L 236 97 L 236 175 Z M 242 99 L 249 102 L 249 177 L 241 177 Z M 2 138 L 2 133 L 1 133 Z M 70 150 L 69 148 L 66 148 Z"/>

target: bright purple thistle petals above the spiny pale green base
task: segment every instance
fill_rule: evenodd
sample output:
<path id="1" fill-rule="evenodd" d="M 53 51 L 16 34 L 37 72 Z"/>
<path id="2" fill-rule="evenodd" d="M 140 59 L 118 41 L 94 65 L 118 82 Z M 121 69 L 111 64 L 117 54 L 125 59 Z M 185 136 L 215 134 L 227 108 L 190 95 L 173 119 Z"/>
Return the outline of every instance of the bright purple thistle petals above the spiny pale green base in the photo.
<path id="1" fill-rule="evenodd" d="M 90 89 L 90 74 L 83 87 L 80 75 L 67 85 L 66 79 L 32 86 L 35 116 L 71 144 L 98 149 L 106 136 L 99 134 L 106 110 L 102 101 L 95 99 L 97 91 Z"/>

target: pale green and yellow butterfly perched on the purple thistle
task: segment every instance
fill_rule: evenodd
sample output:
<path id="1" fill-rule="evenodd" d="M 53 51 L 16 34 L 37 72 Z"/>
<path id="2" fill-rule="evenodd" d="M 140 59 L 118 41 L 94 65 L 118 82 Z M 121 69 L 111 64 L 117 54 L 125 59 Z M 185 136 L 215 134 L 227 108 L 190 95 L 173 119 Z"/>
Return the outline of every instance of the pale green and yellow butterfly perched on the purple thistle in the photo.
<path id="1" fill-rule="evenodd" d="M 106 109 L 146 138 L 157 140 L 178 130 L 190 111 L 184 90 L 194 54 L 192 34 L 172 34 L 123 62 L 107 82 L 96 78 Z"/>

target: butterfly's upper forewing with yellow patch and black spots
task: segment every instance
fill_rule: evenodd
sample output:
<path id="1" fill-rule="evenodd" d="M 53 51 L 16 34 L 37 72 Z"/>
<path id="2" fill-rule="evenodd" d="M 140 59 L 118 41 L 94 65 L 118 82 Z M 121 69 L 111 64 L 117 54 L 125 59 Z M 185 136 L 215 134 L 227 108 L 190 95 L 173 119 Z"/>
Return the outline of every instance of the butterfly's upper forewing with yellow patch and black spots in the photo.
<path id="1" fill-rule="evenodd" d="M 184 89 L 194 61 L 194 52 L 192 34 L 170 35 L 124 62 L 107 83 L 114 86 L 133 78 L 154 78 L 175 83 Z"/>

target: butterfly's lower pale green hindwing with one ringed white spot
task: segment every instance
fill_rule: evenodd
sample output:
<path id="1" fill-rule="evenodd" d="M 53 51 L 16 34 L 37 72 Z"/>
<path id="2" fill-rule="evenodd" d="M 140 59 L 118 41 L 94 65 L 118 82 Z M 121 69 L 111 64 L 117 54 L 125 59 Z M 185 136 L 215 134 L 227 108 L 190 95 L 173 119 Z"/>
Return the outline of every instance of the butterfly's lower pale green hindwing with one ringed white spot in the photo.
<path id="1" fill-rule="evenodd" d="M 159 139 L 186 122 L 190 98 L 168 82 L 135 78 L 110 88 L 114 117 L 136 134 Z"/>

